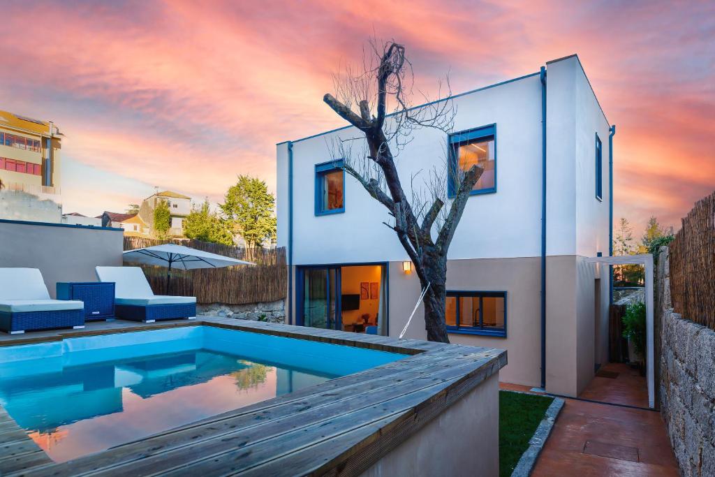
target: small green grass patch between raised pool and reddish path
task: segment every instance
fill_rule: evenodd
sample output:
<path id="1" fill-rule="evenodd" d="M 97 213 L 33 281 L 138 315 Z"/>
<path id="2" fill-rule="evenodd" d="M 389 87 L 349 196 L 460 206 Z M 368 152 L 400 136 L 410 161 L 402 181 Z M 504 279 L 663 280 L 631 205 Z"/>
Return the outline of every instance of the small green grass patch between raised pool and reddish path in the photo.
<path id="1" fill-rule="evenodd" d="M 499 475 L 511 476 L 553 398 L 499 391 Z"/>

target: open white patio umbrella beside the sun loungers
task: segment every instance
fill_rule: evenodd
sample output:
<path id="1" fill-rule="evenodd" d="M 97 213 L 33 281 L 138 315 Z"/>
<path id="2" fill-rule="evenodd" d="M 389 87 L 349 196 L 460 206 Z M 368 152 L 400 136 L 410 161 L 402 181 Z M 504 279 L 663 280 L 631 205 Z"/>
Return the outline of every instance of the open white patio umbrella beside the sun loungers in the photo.
<path id="1" fill-rule="evenodd" d="M 167 243 L 153 247 L 136 248 L 124 251 L 124 260 L 143 263 L 144 265 L 158 265 L 167 268 L 167 293 L 172 279 L 172 267 L 182 270 L 196 268 L 220 268 L 232 265 L 255 265 L 237 258 L 225 257 L 211 252 L 204 252 L 184 245 Z"/>

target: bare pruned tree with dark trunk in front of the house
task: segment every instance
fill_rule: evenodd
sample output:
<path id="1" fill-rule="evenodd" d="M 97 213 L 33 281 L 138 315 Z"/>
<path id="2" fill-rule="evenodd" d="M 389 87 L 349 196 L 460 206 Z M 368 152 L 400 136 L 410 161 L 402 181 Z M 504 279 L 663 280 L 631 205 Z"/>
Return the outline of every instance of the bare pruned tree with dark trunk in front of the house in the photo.
<path id="1" fill-rule="evenodd" d="M 449 343 L 445 327 L 447 251 L 470 191 L 483 169 L 474 165 L 463 172 L 457 167 L 453 177 L 455 196 L 448 207 L 445 207 L 445 202 L 450 202 L 446 197 L 446 179 L 450 174 L 447 164 L 441 169 L 435 165 L 421 186 L 415 184 L 421 171 L 413 174 L 408 198 L 395 158 L 416 130 L 453 129 L 456 110 L 450 100 L 449 82 L 445 98 L 429 102 L 424 97 L 425 105 L 413 107 L 413 71 L 405 56 L 405 46 L 395 41 L 379 45 L 375 40 L 369 45 L 359 69 L 346 67 L 345 72 L 335 77 L 337 98 L 332 94 L 323 97 L 333 111 L 361 133 L 359 137 L 334 142 L 333 157 L 343 159 L 345 171 L 390 212 L 393 223 L 385 225 L 397 234 L 414 263 L 423 291 L 426 290 L 428 340 Z M 390 114 L 388 100 L 393 102 Z"/>

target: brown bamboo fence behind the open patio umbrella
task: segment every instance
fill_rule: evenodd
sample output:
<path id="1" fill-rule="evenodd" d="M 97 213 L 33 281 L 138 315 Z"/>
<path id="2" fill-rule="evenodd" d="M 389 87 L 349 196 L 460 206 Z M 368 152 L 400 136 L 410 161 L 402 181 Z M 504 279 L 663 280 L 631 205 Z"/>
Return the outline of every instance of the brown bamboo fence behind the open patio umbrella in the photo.
<path id="1" fill-rule="evenodd" d="M 199 270 L 172 268 L 171 290 L 167 293 L 166 267 L 133 264 L 142 267 L 149 285 L 157 295 L 195 296 L 197 303 L 227 305 L 265 303 L 285 299 L 287 290 L 285 248 L 243 248 L 199 240 L 154 240 L 124 236 L 124 250 L 151 247 L 162 243 L 186 245 L 205 252 L 247 260 L 255 265 Z"/>

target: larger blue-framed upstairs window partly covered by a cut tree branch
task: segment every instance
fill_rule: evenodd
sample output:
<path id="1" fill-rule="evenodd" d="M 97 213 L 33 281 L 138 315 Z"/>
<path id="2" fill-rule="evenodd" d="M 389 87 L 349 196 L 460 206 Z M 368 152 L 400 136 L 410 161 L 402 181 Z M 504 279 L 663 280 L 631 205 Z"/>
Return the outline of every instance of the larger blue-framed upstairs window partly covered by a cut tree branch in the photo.
<path id="1" fill-rule="evenodd" d="M 457 194 L 464 173 L 473 165 L 481 167 L 483 172 L 471 194 L 496 192 L 496 124 L 450 134 L 449 149 L 449 197 Z"/>

